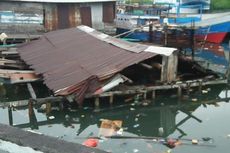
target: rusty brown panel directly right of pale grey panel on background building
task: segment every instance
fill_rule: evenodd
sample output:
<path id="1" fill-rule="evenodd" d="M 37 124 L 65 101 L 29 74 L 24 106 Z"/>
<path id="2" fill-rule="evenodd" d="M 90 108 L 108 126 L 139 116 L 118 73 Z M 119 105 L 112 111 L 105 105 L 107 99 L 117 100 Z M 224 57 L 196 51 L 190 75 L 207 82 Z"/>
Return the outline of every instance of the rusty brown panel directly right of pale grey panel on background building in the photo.
<path id="1" fill-rule="evenodd" d="M 112 23 L 115 18 L 115 2 L 103 3 L 103 22 Z"/>

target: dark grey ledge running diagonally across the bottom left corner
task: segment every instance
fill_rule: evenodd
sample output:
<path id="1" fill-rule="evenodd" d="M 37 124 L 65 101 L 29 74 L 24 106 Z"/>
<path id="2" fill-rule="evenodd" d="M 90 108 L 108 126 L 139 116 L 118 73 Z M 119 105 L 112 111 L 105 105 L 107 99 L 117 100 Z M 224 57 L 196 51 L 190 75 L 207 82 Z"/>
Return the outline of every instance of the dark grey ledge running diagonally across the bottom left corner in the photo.
<path id="1" fill-rule="evenodd" d="M 27 146 L 44 153 L 106 153 L 97 148 L 89 148 L 78 143 L 60 140 L 37 133 L 23 131 L 15 127 L 0 124 L 0 139 Z"/>

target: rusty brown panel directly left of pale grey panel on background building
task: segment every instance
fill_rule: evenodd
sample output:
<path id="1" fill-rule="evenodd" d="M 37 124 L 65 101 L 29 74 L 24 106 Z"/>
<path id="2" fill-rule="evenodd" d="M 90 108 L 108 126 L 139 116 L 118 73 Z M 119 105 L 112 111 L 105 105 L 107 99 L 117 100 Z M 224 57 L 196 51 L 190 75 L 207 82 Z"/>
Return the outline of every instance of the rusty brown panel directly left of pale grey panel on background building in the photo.
<path id="1" fill-rule="evenodd" d="M 92 27 L 91 8 L 89 6 L 80 7 L 81 24 Z"/>

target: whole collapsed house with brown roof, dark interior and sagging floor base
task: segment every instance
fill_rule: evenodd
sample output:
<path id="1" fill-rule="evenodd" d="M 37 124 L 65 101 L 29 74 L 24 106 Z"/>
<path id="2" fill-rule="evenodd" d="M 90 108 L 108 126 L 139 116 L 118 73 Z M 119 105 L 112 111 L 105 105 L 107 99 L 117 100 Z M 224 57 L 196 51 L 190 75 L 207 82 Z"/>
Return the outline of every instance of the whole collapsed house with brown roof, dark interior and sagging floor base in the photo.
<path id="1" fill-rule="evenodd" d="M 206 81 L 216 77 L 194 62 L 178 58 L 175 48 L 131 43 L 87 26 L 46 33 L 17 51 L 55 95 L 71 96 L 78 104 L 85 97 L 112 90 L 107 96 L 155 91 L 154 87 L 162 85 L 175 88 L 178 86 L 172 84 L 186 80 L 188 74 Z M 197 85 L 197 81 L 189 85 Z"/>

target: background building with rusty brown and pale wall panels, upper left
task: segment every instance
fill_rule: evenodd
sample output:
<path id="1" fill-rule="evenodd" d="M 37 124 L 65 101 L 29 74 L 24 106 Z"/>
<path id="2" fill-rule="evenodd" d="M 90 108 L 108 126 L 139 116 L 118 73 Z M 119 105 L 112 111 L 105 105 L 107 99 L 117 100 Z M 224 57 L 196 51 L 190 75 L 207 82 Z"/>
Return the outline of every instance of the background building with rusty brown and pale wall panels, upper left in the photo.
<path id="1" fill-rule="evenodd" d="M 113 23 L 116 0 L 1 0 L 0 30 L 23 33 Z M 13 31 L 12 31 L 13 29 Z"/>

